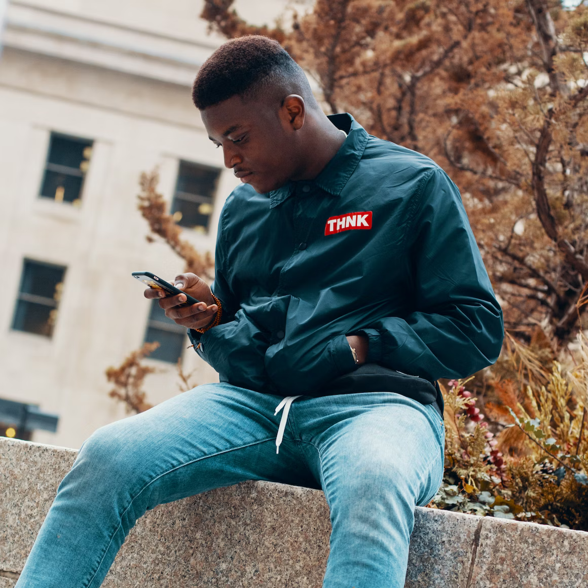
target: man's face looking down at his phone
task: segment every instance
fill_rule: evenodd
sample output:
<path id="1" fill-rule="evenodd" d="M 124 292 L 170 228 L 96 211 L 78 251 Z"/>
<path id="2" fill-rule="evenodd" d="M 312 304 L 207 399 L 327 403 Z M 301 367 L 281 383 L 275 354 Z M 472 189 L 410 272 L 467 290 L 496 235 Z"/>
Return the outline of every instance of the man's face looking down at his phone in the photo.
<path id="1" fill-rule="evenodd" d="M 223 150 L 225 166 L 256 192 L 275 190 L 296 175 L 294 130 L 279 104 L 232 96 L 201 116 L 209 138 Z"/>

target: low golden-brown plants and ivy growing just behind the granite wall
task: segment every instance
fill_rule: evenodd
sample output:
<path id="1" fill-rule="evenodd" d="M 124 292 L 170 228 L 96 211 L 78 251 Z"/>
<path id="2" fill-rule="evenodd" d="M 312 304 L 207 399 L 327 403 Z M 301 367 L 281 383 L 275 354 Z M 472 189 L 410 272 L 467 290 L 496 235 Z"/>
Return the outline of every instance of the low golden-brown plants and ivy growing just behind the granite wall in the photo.
<path id="1" fill-rule="evenodd" d="M 437 507 L 588 529 L 588 341 L 580 336 L 570 372 L 542 352 L 550 349 L 543 337 L 533 336 L 533 349 L 519 343 L 510 350 L 513 363 L 492 368 L 495 380 L 486 396 L 493 403 L 482 411 L 495 422 L 487 427 L 485 420 L 471 422 L 473 396 L 462 382 L 442 388 L 446 470 Z M 509 377 L 513 367 L 515 377 Z"/>

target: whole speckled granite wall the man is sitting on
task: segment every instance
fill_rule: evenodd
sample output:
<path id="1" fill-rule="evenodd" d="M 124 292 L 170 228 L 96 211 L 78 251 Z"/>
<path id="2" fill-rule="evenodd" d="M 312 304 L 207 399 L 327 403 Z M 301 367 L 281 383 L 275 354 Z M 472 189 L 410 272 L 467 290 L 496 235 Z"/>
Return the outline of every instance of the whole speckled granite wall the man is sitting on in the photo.
<path id="1" fill-rule="evenodd" d="M 0 588 L 12 588 L 76 452 L 0 439 Z M 329 552 L 322 492 L 248 482 L 153 509 L 108 588 L 318 588 Z M 579 588 L 588 533 L 416 509 L 406 588 Z"/>

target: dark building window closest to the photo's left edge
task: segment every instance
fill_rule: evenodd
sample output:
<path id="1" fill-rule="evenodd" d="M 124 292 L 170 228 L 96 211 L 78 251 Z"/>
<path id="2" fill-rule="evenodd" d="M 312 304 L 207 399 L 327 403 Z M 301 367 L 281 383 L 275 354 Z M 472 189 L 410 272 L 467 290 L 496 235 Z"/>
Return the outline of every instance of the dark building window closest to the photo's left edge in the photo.
<path id="1" fill-rule="evenodd" d="M 25 259 L 12 328 L 51 337 L 65 268 Z"/>

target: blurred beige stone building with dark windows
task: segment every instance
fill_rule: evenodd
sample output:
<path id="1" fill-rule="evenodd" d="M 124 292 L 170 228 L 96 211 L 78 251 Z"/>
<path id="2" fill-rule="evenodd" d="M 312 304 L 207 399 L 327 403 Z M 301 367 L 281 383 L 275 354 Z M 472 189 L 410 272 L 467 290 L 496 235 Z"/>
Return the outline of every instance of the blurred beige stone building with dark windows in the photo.
<path id="1" fill-rule="evenodd" d="M 238 8 L 268 22 L 284 4 L 242 0 Z M 220 209 L 236 184 L 191 102 L 198 66 L 222 42 L 206 34 L 201 9 L 199 0 L 6 6 L 0 402 L 58 416 L 55 433 L 32 427 L 32 440 L 79 447 L 125 416 L 108 397 L 104 372 L 145 340 L 167 342 L 152 360 L 162 372 L 146 381 L 150 402 L 178 393 L 178 355 L 196 382 L 217 380 L 131 278 L 146 269 L 170 279 L 183 266 L 166 245 L 145 240 L 136 210 L 141 172 L 159 169 L 171 212 L 202 252 L 214 250 Z M 2 426 L 0 434 L 28 436 L 14 423 Z"/>

